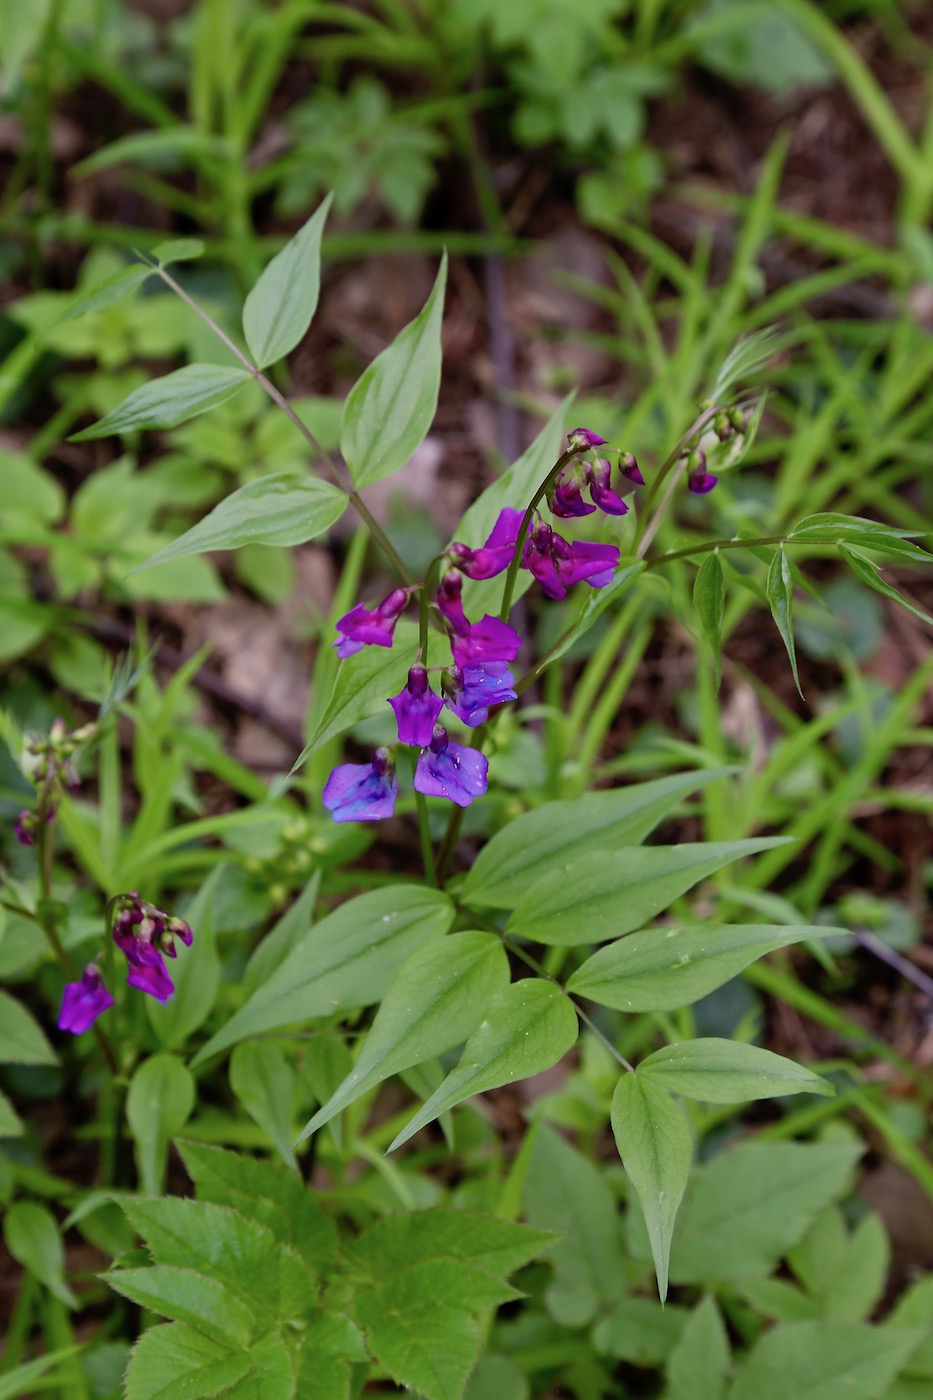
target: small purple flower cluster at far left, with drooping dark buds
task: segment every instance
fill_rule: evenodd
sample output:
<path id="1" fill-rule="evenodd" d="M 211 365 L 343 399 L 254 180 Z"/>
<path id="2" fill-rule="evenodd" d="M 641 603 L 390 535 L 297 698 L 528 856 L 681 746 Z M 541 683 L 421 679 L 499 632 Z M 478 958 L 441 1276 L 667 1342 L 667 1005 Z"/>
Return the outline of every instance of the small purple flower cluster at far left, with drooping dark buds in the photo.
<path id="1" fill-rule="evenodd" d="M 129 963 L 126 984 L 156 997 L 157 1001 L 168 1001 L 175 984 L 168 976 L 164 958 L 178 956 L 177 938 L 191 948 L 193 939 L 191 925 L 175 914 L 167 914 L 165 910 L 147 904 L 134 890 L 119 895 L 111 907 L 116 911 L 113 942 Z M 104 984 L 97 963 L 88 963 L 80 981 L 66 983 L 59 1030 L 70 1030 L 78 1036 L 112 1005 L 113 997 Z"/>

